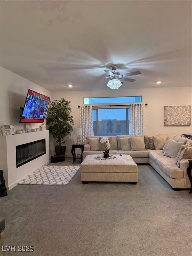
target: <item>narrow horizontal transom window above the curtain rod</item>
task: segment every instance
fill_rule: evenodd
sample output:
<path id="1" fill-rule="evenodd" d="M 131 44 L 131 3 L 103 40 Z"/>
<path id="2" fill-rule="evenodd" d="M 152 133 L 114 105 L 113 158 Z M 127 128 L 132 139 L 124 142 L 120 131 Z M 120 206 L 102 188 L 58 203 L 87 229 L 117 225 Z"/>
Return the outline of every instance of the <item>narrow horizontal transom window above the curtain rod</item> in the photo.
<path id="1" fill-rule="evenodd" d="M 83 98 L 83 104 L 134 103 L 142 102 L 142 96 Z"/>

